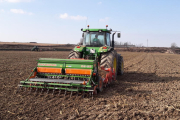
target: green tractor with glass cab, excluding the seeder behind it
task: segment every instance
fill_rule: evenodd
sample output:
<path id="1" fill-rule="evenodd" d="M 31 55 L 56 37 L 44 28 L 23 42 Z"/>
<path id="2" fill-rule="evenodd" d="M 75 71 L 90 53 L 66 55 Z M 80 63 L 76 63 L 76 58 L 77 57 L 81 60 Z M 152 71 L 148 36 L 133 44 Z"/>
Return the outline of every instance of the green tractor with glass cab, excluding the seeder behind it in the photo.
<path id="1" fill-rule="evenodd" d="M 81 31 L 83 31 L 82 41 L 70 52 L 68 59 L 97 59 L 100 67 L 114 68 L 116 75 L 122 75 L 124 71 L 123 57 L 114 50 L 114 35 L 118 31 L 89 29 L 89 26 L 88 29 L 81 29 Z M 112 41 L 111 33 L 113 33 Z M 117 37 L 120 38 L 120 33 L 117 33 Z"/>

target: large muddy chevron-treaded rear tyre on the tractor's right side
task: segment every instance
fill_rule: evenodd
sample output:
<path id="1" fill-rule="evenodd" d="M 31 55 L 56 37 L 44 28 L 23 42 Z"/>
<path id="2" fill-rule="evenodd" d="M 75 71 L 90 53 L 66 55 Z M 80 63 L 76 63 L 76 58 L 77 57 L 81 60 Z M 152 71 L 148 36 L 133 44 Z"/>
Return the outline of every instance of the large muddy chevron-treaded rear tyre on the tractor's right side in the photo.
<path id="1" fill-rule="evenodd" d="M 100 67 L 104 68 L 114 68 L 115 74 L 117 75 L 117 53 L 116 51 L 110 51 L 101 54 Z"/>

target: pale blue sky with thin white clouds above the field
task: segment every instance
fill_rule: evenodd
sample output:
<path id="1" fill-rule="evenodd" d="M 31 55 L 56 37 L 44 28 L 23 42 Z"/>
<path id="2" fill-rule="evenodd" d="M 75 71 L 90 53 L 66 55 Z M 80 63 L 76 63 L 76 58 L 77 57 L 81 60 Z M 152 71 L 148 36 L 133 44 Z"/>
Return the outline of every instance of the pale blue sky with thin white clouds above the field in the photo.
<path id="1" fill-rule="evenodd" d="M 0 41 L 75 44 L 81 28 L 121 32 L 118 42 L 180 47 L 180 0 L 0 0 Z"/>

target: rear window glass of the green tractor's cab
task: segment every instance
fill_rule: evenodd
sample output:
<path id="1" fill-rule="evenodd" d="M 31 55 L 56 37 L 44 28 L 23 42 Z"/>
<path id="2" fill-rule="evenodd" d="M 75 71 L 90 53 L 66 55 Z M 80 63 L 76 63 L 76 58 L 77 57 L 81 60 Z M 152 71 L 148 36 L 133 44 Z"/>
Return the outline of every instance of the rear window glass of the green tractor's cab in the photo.
<path id="1" fill-rule="evenodd" d="M 103 32 L 85 32 L 83 45 L 103 46 L 105 45 L 105 33 Z"/>

